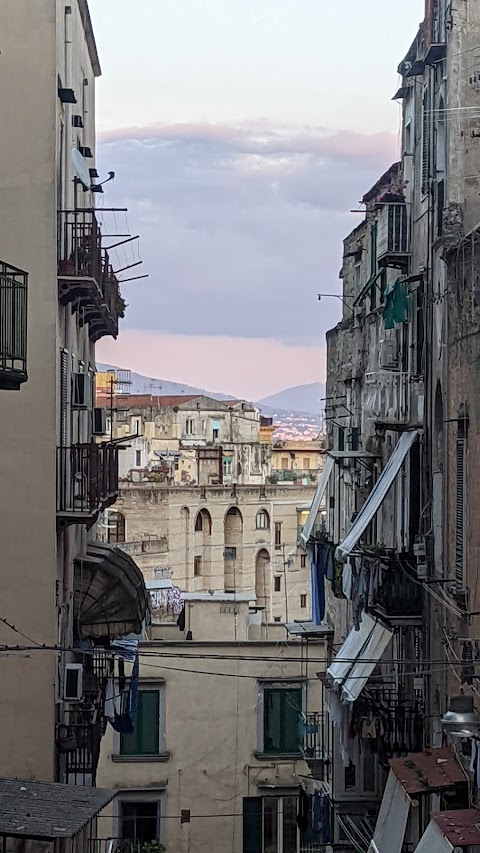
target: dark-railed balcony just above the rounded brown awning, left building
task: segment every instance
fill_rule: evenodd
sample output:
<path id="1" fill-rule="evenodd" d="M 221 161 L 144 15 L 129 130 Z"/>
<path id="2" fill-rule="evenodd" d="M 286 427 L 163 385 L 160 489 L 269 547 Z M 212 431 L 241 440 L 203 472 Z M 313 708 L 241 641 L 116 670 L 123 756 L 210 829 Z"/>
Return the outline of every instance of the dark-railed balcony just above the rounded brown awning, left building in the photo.
<path id="1" fill-rule="evenodd" d="M 118 497 L 115 444 L 57 448 L 57 520 L 60 526 L 91 525 Z"/>

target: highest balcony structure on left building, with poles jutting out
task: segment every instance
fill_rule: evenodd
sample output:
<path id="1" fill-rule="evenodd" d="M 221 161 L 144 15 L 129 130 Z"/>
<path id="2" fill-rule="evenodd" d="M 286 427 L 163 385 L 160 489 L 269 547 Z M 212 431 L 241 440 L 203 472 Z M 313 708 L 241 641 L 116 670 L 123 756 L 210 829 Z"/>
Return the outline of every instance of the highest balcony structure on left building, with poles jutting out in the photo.
<path id="1" fill-rule="evenodd" d="M 102 249 L 100 226 L 93 209 L 59 213 L 58 295 L 62 305 L 82 309 L 90 338 L 118 334 L 125 302 L 108 253 Z"/>

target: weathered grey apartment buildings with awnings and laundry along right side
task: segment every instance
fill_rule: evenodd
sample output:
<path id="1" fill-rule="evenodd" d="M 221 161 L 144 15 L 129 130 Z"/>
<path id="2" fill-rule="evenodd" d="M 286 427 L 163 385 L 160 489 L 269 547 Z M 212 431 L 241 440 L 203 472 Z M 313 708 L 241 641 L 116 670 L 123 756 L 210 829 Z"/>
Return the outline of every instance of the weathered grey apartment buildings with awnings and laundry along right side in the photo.
<path id="1" fill-rule="evenodd" d="M 336 850 L 433 853 L 480 840 L 465 758 L 478 734 L 479 24 L 473 2 L 425 4 L 398 69 L 401 159 L 345 240 L 343 318 L 327 334 L 319 489 L 321 546 L 334 560 L 326 613 L 340 643 L 325 675 Z M 459 692 L 473 722 L 454 750 Z"/>

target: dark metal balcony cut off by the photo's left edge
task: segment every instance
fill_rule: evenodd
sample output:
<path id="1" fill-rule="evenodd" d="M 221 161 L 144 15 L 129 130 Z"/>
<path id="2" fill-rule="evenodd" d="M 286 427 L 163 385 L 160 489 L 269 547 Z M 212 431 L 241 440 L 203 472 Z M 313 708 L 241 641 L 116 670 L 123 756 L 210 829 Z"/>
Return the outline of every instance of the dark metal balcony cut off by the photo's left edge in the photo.
<path id="1" fill-rule="evenodd" d="M 0 390 L 27 381 L 28 274 L 0 261 Z"/>

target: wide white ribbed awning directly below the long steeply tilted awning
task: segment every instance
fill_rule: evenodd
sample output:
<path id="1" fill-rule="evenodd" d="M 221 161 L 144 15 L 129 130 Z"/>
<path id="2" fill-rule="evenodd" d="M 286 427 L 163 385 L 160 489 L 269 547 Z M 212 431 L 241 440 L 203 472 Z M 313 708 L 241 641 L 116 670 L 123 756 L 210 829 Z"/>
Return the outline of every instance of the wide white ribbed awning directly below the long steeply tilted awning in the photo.
<path id="1" fill-rule="evenodd" d="M 392 636 L 392 631 L 381 622 L 368 613 L 362 614 L 360 630 L 352 628 L 327 669 L 327 681 L 339 693 L 343 704 L 358 699 Z"/>

